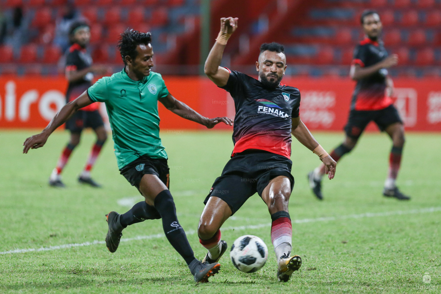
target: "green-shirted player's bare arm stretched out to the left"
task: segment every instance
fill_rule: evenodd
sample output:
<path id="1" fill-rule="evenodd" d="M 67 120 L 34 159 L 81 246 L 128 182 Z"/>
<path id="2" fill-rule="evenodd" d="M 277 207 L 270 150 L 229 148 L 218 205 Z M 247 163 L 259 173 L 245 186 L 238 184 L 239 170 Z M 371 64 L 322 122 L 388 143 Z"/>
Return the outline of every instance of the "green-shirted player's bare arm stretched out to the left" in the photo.
<path id="1" fill-rule="evenodd" d="M 67 121 L 78 109 L 83 108 L 93 102 L 87 96 L 87 91 L 84 91 L 77 99 L 67 103 L 60 109 L 59 112 L 54 116 L 50 123 L 41 131 L 40 134 L 31 136 L 25 140 L 23 143 L 23 153 L 27 153 L 29 149 L 37 149 L 45 145 L 48 137 L 57 127 L 60 127 L 63 123 Z"/>

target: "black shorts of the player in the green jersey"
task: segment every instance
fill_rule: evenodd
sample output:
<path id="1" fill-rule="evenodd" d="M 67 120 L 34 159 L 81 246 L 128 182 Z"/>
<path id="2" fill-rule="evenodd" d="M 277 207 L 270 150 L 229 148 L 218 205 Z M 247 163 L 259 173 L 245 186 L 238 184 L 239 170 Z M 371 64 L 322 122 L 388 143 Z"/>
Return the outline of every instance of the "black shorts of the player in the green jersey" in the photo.
<path id="1" fill-rule="evenodd" d="M 132 186 L 138 188 L 138 191 L 143 175 L 156 175 L 167 186 L 167 189 L 170 188 L 170 169 L 164 158 L 150 158 L 143 155 L 121 168 L 120 173 Z"/>

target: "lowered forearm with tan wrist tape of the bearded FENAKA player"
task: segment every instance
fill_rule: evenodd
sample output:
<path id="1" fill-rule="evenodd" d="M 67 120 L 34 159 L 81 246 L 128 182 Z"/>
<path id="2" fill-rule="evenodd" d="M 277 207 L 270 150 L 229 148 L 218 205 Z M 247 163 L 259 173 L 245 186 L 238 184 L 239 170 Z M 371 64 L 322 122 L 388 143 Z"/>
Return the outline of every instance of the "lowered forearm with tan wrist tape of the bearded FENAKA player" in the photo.
<path id="1" fill-rule="evenodd" d="M 325 170 L 328 178 L 333 179 L 337 163 L 332 159 L 331 156 L 329 156 L 328 153 L 326 153 L 320 144 L 318 144 L 308 128 L 300 120 L 300 117 L 292 119 L 291 134 L 297 139 L 297 141 L 302 143 L 306 148 L 310 149 L 320 157 L 320 160 L 323 162 L 323 164 L 325 164 Z"/>

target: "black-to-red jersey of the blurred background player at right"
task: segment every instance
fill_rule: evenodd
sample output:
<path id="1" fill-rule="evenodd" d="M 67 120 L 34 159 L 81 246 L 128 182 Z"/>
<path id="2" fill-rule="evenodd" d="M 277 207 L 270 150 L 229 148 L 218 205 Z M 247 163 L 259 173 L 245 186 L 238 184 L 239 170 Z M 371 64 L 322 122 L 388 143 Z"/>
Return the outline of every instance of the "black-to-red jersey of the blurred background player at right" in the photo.
<path id="1" fill-rule="evenodd" d="M 369 67 L 387 56 L 382 41 L 375 42 L 366 38 L 355 48 L 352 64 Z M 380 110 L 391 105 L 392 99 L 385 91 L 387 74 L 387 69 L 382 68 L 366 78 L 359 79 L 352 94 L 351 109 Z"/>

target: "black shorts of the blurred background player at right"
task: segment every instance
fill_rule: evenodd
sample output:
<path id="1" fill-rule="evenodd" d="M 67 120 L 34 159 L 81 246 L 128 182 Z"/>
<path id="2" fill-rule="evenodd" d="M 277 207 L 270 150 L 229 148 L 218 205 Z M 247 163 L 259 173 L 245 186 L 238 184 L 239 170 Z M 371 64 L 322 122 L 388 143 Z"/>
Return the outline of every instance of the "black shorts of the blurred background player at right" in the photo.
<path id="1" fill-rule="evenodd" d="M 344 131 L 348 137 L 358 139 L 370 121 L 374 121 L 381 131 L 384 131 L 392 123 L 403 123 L 400 114 L 393 105 L 380 110 L 351 110 Z"/>

